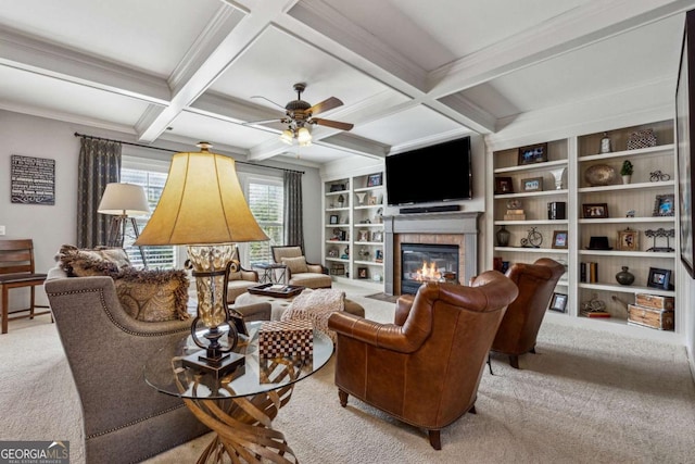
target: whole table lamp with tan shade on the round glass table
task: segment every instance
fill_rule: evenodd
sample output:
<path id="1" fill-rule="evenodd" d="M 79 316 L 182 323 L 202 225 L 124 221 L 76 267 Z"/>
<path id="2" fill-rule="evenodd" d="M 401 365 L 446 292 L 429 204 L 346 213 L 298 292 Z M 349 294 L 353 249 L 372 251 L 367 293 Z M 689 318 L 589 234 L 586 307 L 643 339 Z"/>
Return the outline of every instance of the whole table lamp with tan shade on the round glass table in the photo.
<path id="1" fill-rule="evenodd" d="M 206 353 L 194 353 L 184 364 L 222 376 L 243 364 L 243 356 L 231 352 L 238 340 L 233 324 L 229 324 L 228 347 L 219 343 L 219 326 L 228 321 L 224 286 L 233 243 L 268 237 L 247 204 L 235 160 L 212 153 L 210 143 L 198 147 L 200 152 L 173 156 L 160 202 L 136 244 L 188 246 L 198 290 L 198 315 L 191 334 Z M 199 322 L 207 327 L 207 344 L 197 335 Z"/>

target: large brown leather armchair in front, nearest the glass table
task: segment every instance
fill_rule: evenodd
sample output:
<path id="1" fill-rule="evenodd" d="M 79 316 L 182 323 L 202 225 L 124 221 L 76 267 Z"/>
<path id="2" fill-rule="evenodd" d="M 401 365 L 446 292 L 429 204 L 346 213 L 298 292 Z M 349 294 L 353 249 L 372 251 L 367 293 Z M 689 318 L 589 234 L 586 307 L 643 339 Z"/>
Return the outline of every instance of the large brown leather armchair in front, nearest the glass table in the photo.
<path id="1" fill-rule="evenodd" d="M 428 430 L 440 450 L 440 430 L 475 413 L 478 385 L 504 310 L 517 297 L 503 274 L 488 271 L 475 287 L 428 283 L 401 297 L 394 324 L 333 313 L 336 385 L 342 406 L 352 394 Z"/>

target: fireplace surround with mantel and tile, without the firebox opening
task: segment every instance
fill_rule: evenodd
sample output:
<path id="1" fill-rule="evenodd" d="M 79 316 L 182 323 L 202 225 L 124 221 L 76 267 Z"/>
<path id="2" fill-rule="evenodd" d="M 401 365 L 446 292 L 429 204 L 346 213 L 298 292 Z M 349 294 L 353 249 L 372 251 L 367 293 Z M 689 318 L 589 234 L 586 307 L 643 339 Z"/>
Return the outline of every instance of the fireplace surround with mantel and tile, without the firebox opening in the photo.
<path id="1" fill-rule="evenodd" d="M 384 292 L 401 294 L 401 243 L 458 246 L 458 281 L 468 285 L 478 274 L 480 212 L 383 216 Z"/>

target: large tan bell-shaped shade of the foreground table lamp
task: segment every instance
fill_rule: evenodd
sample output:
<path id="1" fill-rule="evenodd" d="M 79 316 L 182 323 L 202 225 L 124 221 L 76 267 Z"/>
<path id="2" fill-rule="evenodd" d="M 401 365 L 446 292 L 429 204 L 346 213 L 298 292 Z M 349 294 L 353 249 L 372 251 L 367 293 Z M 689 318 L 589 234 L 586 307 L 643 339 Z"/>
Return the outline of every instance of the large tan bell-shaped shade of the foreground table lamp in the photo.
<path id="1" fill-rule="evenodd" d="M 235 160 L 177 153 L 152 217 L 136 244 L 211 244 L 268 240 L 244 199 Z"/>

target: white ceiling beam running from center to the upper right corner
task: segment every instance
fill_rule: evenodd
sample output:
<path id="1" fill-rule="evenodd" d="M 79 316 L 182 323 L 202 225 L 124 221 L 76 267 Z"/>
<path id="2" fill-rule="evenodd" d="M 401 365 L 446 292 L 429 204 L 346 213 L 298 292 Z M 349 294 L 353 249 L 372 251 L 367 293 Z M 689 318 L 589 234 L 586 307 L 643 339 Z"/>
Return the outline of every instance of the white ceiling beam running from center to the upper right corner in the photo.
<path id="1" fill-rule="evenodd" d="M 692 1 L 589 2 L 432 71 L 428 93 L 442 98 L 688 8 L 693 8 Z"/>

